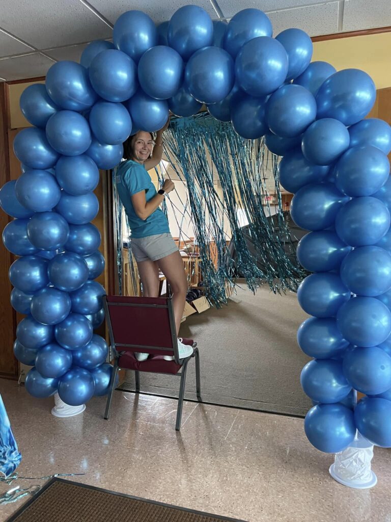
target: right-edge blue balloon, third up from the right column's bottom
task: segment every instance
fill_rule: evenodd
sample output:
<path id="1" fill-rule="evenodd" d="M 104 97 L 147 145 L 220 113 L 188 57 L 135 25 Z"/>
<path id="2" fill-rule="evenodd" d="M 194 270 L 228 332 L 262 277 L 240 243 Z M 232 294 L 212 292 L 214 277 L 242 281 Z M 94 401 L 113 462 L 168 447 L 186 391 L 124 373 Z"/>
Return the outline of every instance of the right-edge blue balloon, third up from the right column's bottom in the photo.
<path id="1" fill-rule="evenodd" d="M 355 297 L 340 307 L 337 325 L 351 345 L 378 346 L 391 334 L 391 312 L 373 297 Z"/>

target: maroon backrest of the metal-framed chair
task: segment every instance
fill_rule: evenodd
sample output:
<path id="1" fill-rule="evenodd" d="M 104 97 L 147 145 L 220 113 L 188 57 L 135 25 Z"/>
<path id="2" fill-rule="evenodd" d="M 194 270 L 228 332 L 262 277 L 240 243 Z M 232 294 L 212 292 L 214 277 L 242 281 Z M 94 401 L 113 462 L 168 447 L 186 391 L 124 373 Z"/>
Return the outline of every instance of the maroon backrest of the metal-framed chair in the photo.
<path id="1" fill-rule="evenodd" d="M 179 360 L 171 299 L 104 295 L 103 307 L 117 351 L 174 355 Z"/>

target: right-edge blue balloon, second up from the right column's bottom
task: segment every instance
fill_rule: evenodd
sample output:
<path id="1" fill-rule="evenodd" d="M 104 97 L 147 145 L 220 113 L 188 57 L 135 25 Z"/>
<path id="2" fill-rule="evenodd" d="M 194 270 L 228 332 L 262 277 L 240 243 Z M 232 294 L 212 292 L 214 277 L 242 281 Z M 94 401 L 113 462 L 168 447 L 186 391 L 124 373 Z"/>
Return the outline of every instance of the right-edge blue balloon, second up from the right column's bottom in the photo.
<path id="1" fill-rule="evenodd" d="M 347 381 L 358 392 L 377 395 L 391 388 L 391 357 L 378 346 L 350 350 L 343 364 Z"/>

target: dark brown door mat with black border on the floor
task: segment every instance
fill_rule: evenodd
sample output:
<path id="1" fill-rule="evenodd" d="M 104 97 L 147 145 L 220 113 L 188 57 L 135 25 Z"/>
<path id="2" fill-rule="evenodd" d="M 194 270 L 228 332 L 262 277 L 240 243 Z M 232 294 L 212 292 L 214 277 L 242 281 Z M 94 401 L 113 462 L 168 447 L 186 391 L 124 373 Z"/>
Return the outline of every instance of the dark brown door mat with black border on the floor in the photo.
<path id="1" fill-rule="evenodd" d="M 7 522 L 245 522 L 54 478 Z"/>

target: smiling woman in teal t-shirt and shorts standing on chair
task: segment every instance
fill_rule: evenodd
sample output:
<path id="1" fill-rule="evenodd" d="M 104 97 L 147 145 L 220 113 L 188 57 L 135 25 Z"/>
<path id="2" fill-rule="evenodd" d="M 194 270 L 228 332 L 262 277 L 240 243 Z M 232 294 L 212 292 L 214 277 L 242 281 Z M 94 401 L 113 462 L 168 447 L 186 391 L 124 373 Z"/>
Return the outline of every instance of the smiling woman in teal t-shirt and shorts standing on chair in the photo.
<path id="1" fill-rule="evenodd" d="M 165 180 L 162 188 L 156 192 L 147 172 L 162 160 L 163 132 L 168 124 L 169 120 L 157 132 L 156 137 L 144 131 L 129 136 L 124 143 L 125 161 L 119 164 L 116 185 L 129 220 L 131 249 L 139 270 L 143 296 L 158 297 L 159 269 L 162 270 L 173 292 L 178 335 L 188 284 L 179 249 L 170 234 L 167 218 L 160 208 L 165 195 L 174 190 L 174 183 Z M 184 345 L 180 339 L 178 349 L 180 359 L 193 352 L 192 347 Z M 148 358 L 148 353 L 135 355 L 139 361 Z"/>

